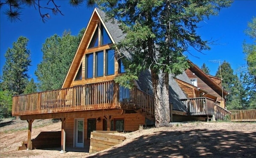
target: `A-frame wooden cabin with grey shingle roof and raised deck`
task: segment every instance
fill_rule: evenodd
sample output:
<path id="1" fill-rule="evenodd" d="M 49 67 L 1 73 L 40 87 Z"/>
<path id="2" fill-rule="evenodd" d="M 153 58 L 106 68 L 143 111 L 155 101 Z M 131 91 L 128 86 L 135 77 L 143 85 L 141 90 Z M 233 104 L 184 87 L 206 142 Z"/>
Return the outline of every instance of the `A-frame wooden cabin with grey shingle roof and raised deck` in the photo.
<path id="1" fill-rule="evenodd" d="M 27 149 L 32 149 L 31 130 L 36 119 L 59 118 L 62 121 L 63 152 L 65 147 L 88 151 L 90 132 L 94 130 L 136 131 L 140 125 L 154 125 L 150 71 L 140 73 L 131 90 L 113 81 L 125 70 L 111 46 L 125 35 L 117 23 L 106 22 L 104 18 L 104 12 L 95 8 L 61 89 L 13 97 L 12 115 L 28 122 Z M 212 116 L 216 109 L 222 109 L 216 107 L 212 96 L 200 95 L 206 93 L 207 88 L 203 91 L 193 85 L 190 71 L 176 79 L 170 75 L 172 122 L 205 118 Z M 200 111 L 191 113 L 188 99 L 196 100 Z"/>

